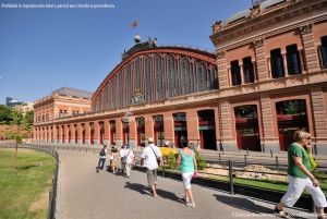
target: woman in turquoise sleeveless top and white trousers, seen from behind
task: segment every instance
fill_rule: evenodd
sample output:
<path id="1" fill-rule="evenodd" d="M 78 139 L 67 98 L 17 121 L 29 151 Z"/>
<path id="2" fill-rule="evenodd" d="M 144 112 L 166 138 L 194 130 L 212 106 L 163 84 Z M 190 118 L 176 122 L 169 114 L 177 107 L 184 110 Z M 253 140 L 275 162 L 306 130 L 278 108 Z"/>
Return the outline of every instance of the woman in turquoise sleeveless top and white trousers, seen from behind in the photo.
<path id="1" fill-rule="evenodd" d="M 196 207 L 191 190 L 191 180 L 194 172 L 196 172 L 196 159 L 194 151 L 189 148 L 186 139 L 181 142 L 183 149 L 179 150 L 177 163 L 181 163 L 182 179 L 185 190 L 185 202 L 187 207 Z"/>

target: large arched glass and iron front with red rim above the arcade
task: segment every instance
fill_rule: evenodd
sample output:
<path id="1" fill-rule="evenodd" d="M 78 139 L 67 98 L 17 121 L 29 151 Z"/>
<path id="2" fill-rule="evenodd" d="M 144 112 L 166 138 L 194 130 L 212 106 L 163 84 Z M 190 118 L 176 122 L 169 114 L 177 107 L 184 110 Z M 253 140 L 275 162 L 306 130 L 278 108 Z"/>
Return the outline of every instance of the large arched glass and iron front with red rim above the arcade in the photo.
<path id="1" fill-rule="evenodd" d="M 93 111 L 217 89 L 217 76 L 214 53 L 136 44 L 94 93 Z"/>

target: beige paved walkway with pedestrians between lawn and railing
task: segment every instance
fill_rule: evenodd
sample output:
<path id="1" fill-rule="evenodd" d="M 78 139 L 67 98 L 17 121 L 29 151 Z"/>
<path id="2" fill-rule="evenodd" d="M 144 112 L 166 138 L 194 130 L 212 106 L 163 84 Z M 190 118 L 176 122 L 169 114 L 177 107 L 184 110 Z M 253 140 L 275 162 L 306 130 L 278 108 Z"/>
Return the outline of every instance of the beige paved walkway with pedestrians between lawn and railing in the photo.
<path id="1" fill-rule="evenodd" d="M 60 170 L 57 219 L 229 219 L 276 218 L 272 204 L 193 185 L 196 208 L 181 200 L 183 185 L 158 179 L 158 197 L 152 197 L 146 174 L 132 171 L 130 179 L 100 171 L 97 155 L 59 150 Z M 307 217 L 306 217 L 307 218 Z"/>

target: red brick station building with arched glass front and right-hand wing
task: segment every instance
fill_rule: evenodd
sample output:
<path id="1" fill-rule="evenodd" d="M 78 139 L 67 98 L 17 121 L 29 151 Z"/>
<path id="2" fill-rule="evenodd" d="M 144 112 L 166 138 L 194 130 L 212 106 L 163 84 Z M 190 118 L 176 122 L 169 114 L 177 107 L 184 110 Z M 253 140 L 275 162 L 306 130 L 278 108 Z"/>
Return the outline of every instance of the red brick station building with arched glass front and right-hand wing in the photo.
<path id="1" fill-rule="evenodd" d="M 216 53 L 136 36 L 90 112 L 36 120 L 35 139 L 136 147 L 186 136 L 205 149 L 280 151 L 302 129 L 327 155 L 326 0 L 261 1 L 216 22 L 210 39 Z"/>

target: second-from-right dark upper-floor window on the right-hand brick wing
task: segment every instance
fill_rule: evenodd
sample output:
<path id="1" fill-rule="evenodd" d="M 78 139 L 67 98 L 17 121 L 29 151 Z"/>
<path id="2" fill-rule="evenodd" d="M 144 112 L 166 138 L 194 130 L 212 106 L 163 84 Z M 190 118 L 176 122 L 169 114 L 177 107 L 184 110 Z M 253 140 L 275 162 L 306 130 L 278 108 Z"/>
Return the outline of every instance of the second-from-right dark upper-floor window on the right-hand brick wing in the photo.
<path id="1" fill-rule="evenodd" d="M 287 46 L 288 72 L 290 75 L 301 74 L 301 61 L 296 45 Z"/>

